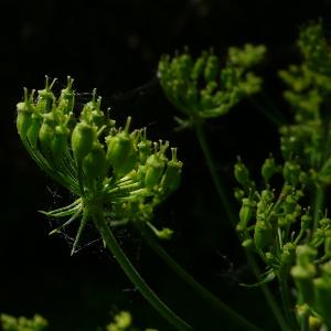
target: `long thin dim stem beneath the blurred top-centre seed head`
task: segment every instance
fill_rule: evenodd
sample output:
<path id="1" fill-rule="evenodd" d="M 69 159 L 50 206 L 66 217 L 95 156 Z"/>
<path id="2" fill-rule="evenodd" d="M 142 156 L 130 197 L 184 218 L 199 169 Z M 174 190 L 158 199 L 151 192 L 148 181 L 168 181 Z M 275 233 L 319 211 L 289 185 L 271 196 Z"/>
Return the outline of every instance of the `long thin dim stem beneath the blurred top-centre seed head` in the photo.
<path id="1" fill-rule="evenodd" d="M 210 151 L 209 145 L 206 142 L 205 132 L 204 132 L 204 128 L 203 128 L 203 122 L 201 121 L 201 119 L 197 118 L 196 120 L 194 120 L 194 127 L 195 127 L 196 138 L 197 138 L 200 147 L 203 151 L 203 154 L 204 154 L 204 158 L 206 160 L 207 168 L 210 170 L 210 173 L 211 173 L 212 180 L 214 182 L 214 185 L 216 188 L 216 191 L 217 191 L 217 193 L 221 197 L 221 201 L 223 203 L 223 206 L 225 209 L 225 212 L 226 212 L 226 215 L 227 215 L 229 222 L 235 227 L 236 224 L 237 224 L 237 216 L 235 215 L 233 209 L 231 207 L 232 202 L 228 199 L 228 194 L 225 192 L 224 181 L 221 178 L 221 175 L 218 175 L 218 173 L 216 171 L 216 168 L 214 166 L 214 160 L 213 160 L 212 153 Z M 245 249 L 245 253 L 246 253 L 246 256 L 247 256 L 248 261 L 250 264 L 252 270 L 258 279 L 259 275 L 260 275 L 260 271 L 259 271 L 259 268 L 258 268 L 258 266 L 255 261 L 255 258 L 247 249 Z M 273 293 L 270 292 L 268 286 L 263 284 L 260 287 L 261 287 L 261 290 L 263 290 L 263 292 L 264 292 L 264 295 L 265 295 L 265 297 L 268 301 L 268 305 L 269 305 L 269 307 L 270 307 L 278 324 L 280 325 L 281 330 L 282 331 L 289 331 L 290 329 L 287 325 L 287 322 L 286 322 L 279 307 L 277 306 L 276 299 L 273 296 Z"/>

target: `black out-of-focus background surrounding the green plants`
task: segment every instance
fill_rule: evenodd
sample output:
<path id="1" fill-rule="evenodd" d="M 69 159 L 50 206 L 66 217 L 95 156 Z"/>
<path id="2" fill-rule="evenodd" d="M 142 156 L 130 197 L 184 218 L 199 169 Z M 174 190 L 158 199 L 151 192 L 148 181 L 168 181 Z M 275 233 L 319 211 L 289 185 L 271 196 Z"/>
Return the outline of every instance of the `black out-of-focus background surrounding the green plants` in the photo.
<path id="1" fill-rule="evenodd" d="M 54 224 L 39 210 L 70 202 L 29 158 L 15 132 L 15 104 L 22 87 L 42 88 L 44 75 L 75 78 L 77 92 L 94 87 L 113 117 L 134 117 L 148 126 L 151 138 L 170 139 L 184 162 L 183 182 L 156 213 L 156 223 L 175 229 L 167 249 L 215 295 L 264 328 L 277 330 L 223 209 L 194 136 L 174 134 L 175 109 L 158 86 L 156 71 L 163 53 L 189 45 L 193 54 L 213 46 L 264 43 L 267 58 L 259 70 L 265 88 L 288 116 L 277 71 L 298 60 L 293 41 L 298 28 L 324 18 L 331 1 L 98 0 L 1 1 L 1 220 L 0 312 L 39 312 L 50 330 L 87 331 L 105 325 L 120 309 L 132 312 L 137 325 L 171 330 L 130 285 L 117 263 L 104 252 L 93 228 L 83 249 L 70 256 L 71 236 L 47 236 Z M 329 29 L 330 30 L 330 29 Z M 86 102 L 86 95 L 78 97 Z M 277 129 L 250 104 L 243 102 L 222 119 L 210 122 L 209 139 L 220 171 L 233 180 L 232 164 L 241 154 L 252 167 L 269 151 L 277 154 Z M 199 330 L 234 330 L 141 243 L 131 229 L 117 233 L 143 277 L 182 317 Z M 96 241 L 96 242 L 95 242 Z M 205 327 L 203 327 L 205 323 Z"/>

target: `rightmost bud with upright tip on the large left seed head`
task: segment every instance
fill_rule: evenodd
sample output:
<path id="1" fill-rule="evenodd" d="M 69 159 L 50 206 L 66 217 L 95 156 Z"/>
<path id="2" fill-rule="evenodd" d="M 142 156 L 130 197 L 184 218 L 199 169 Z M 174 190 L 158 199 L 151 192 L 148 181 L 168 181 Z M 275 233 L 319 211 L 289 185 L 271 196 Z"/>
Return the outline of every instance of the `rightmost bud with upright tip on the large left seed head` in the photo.
<path id="1" fill-rule="evenodd" d="M 177 159 L 177 148 L 171 148 L 172 159 L 167 163 L 166 172 L 162 177 L 161 185 L 167 192 L 178 189 L 181 180 L 183 163 Z"/>

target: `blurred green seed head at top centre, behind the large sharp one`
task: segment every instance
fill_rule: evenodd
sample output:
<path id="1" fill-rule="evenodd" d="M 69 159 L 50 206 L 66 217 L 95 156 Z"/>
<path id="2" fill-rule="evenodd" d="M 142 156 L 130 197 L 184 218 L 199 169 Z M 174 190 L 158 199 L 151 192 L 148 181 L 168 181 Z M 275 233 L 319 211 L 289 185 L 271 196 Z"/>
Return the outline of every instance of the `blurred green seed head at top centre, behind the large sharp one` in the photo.
<path id="1" fill-rule="evenodd" d="M 265 51 L 252 44 L 231 47 L 223 65 L 213 51 L 196 60 L 188 52 L 172 58 L 164 55 L 158 75 L 169 100 L 189 119 L 218 117 L 259 90 L 261 79 L 249 68 L 263 60 Z"/>

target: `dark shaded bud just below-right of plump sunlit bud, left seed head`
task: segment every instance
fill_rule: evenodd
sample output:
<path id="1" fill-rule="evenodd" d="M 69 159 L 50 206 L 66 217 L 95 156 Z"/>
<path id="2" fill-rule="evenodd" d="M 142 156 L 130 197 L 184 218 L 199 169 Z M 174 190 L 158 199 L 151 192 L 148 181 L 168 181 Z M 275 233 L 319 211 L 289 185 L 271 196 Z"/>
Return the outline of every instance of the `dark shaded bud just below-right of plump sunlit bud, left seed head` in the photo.
<path id="1" fill-rule="evenodd" d="M 83 160 L 83 171 L 87 181 L 103 180 L 106 175 L 106 152 L 98 142 L 93 145 L 90 152 Z"/>

